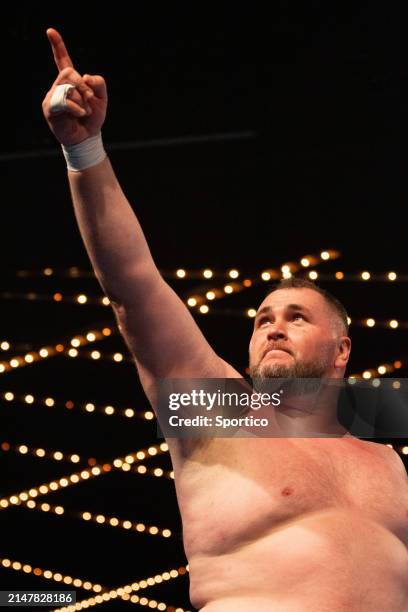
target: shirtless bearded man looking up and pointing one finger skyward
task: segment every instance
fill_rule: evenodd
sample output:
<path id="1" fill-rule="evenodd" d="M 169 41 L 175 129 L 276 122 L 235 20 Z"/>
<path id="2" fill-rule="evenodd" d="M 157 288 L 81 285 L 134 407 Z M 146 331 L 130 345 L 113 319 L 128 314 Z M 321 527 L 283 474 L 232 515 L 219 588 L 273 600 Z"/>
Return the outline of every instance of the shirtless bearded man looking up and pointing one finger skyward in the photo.
<path id="1" fill-rule="evenodd" d="M 60 35 L 47 33 L 59 74 L 44 115 L 65 148 L 79 229 L 149 401 L 155 408 L 160 378 L 240 378 L 154 264 L 98 136 L 104 79 L 76 72 Z M 58 87 L 68 83 L 68 92 Z M 253 372 L 308 376 L 318 364 L 319 376 L 343 377 L 350 340 L 321 293 L 279 289 L 260 310 Z M 277 413 L 296 437 L 169 440 L 192 604 L 202 612 L 408 611 L 402 461 L 387 446 L 340 437 L 324 412 L 299 416 Z M 339 437 L 301 437 L 322 423 Z"/>

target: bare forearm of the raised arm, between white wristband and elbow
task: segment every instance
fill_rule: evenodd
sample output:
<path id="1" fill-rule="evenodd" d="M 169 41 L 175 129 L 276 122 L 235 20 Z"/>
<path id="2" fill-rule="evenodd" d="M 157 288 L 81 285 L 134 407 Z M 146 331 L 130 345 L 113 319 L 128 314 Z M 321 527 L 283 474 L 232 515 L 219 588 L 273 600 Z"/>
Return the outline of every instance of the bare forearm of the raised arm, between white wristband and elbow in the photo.
<path id="1" fill-rule="evenodd" d="M 134 279 L 152 282 L 159 273 L 109 159 L 68 172 L 68 179 L 79 230 L 100 284 L 111 301 L 123 304 L 132 279 L 134 299 Z"/>

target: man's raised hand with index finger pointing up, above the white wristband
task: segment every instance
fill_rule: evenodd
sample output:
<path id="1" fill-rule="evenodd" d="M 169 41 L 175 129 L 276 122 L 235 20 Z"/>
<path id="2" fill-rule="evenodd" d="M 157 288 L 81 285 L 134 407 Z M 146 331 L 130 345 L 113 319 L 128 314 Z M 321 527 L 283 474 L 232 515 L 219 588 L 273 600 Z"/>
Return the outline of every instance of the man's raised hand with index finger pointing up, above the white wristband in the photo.
<path id="1" fill-rule="evenodd" d="M 58 76 L 43 100 L 44 117 L 61 144 L 77 144 L 101 130 L 108 104 L 105 80 L 99 75 L 81 76 L 74 69 L 62 36 L 53 28 L 47 30 L 47 36 Z M 64 84 L 73 87 L 66 94 L 64 108 L 55 112 L 55 90 Z"/>

